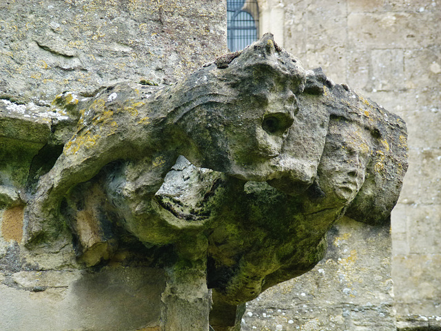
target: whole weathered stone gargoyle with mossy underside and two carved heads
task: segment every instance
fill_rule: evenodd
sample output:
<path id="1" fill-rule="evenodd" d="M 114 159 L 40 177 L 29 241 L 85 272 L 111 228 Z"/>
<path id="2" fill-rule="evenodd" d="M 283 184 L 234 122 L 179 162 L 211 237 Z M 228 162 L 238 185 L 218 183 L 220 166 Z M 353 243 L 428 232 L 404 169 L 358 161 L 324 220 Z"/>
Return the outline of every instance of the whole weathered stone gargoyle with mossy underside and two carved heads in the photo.
<path id="1" fill-rule="evenodd" d="M 163 263 L 213 289 L 216 331 L 311 270 L 342 215 L 387 220 L 407 170 L 402 119 L 305 70 L 271 34 L 173 86 L 78 95 L 53 103 L 76 132 L 34 188 L 28 247 L 72 233 L 89 266 L 128 237 L 174 254 Z"/>

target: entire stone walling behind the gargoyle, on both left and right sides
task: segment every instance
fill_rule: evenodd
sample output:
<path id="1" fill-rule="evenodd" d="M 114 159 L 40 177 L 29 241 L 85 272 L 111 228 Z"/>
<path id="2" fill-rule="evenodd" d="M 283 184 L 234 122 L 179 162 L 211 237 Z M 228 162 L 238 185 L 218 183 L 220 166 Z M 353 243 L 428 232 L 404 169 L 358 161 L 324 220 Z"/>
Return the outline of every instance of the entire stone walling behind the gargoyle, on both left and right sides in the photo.
<path id="1" fill-rule="evenodd" d="M 336 83 L 348 83 L 407 122 L 411 163 L 392 215 L 394 292 L 396 309 L 403 317 L 398 326 L 436 323 L 426 317 L 408 321 L 404 316 L 441 315 L 441 284 L 436 277 L 441 271 L 437 239 L 440 4 L 429 0 L 267 0 L 260 4 L 264 2 L 271 8 L 267 14 L 271 22 L 263 21 L 265 27 L 276 30 L 276 41 L 305 67 L 322 66 Z M 19 107 L 23 114 L 24 106 L 10 101 L 44 111 L 63 90 L 90 94 L 98 86 L 123 79 L 167 85 L 225 52 L 223 1 L 200 1 L 197 7 L 189 0 L 32 0 L 2 5 L 0 102 L 6 109 Z M 36 131 L 44 133 L 45 121 L 53 120 L 43 116 Z M 23 130 L 21 137 L 26 133 Z M 1 141 L 0 170 L 6 166 L 6 157 L 16 157 L 19 169 L 30 163 L 34 154 L 11 155 L 9 143 Z M 26 143 L 35 152 L 41 148 L 38 139 Z M 6 170 L 3 173 L 10 173 Z M 26 172 L 17 172 L 0 179 L 0 204 L 12 205 L 0 211 L 0 329 L 41 330 L 41 325 L 49 325 L 54 330 L 81 330 L 94 325 L 93 330 L 121 330 L 122 321 L 127 321 L 127 330 L 158 330 L 154 308 L 161 302 L 145 302 L 149 294 L 158 298 L 157 291 L 164 287 L 158 270 L 127 268 L 116 259 L 102 270 L 79 271 L 70 245 L 38 254 L 23 247 L 19 185 L 25 178 Z M 393 330 L 388 230 L 349 219 L 336 225 L 322 264 L 305 277 L 265 292 L 262 298 L 267 303 L 255 305 L 255 301 L 248 311 L 258 322 L 245 323 L 244 330 L 254 330 L 253 326 L 258 330 Z M 379 240 L 370 247 L 380 249 L 356 248 L 358 241 L 373 233 Z M 375 266 L 381 271 L 376 274 L 380 279 L 369 279 L 376 273 Z M 350 285 L 345 283 L 348 279 Z M 373 281 L 373 288 L 367 289 L 362 279 Z M 336 291 L 327 292 L 332 289 Z M 372 289 L 377 292 L 372 294 Z M 324 294 L 334 297 L 327 300 Z M 314 298 L 321 303 L 312 303 Z M 103 305 L 103 301 L 112 304 Z M 333 312 L 327 314 L 330 307 Z M 150 313 L 135 319 L 131 313 L 135 308 Z M 54 318 L 54 312 L 59 317 Z M 245 316 L 249 321 L 249 314 Z M 373 319 L 379 324 L 372 324 Z"/>

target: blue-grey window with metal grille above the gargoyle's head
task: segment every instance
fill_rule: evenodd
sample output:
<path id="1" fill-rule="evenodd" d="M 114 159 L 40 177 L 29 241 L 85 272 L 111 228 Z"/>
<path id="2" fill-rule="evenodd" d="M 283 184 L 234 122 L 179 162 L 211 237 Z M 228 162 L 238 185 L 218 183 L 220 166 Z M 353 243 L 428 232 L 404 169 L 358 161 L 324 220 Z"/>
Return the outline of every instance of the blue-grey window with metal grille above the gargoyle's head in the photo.
<path id="1" fill-rule="evenodd" d="M 230 52 L 243 50 L 259 37 L 256 0 L 227 0 L 227 41 Z"/>

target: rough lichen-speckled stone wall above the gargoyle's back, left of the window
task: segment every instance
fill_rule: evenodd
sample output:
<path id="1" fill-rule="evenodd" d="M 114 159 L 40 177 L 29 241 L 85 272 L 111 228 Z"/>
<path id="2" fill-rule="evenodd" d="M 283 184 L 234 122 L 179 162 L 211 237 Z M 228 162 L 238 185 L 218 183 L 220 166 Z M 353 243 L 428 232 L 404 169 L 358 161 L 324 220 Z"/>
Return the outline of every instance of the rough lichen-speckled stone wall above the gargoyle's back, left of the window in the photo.
<path id="1" fill-rule="evenodd" d="M 226 50 L 223 1 L 20 2 L 0 11 L 3 97 L 47 105 L 63 90 L 172 83 Z"/>

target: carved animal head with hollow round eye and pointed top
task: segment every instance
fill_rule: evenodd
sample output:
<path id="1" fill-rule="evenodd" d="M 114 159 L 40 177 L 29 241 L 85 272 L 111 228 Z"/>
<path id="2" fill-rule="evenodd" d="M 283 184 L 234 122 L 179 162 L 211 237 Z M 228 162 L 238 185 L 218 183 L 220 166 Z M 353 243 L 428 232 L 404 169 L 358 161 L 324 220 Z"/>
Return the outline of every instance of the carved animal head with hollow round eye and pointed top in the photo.
<path id="1" fill-rule="evenodd" d="M 175 123 L 192 142 L 183 154 L 240 179 L 280 177 L 286 169 L 274 159 L 294 123 L 296 94 L 305 81 L 298 59 L 280 50 L 272 34 L 220 57 L 178 86 L 184 98 Z"/>

